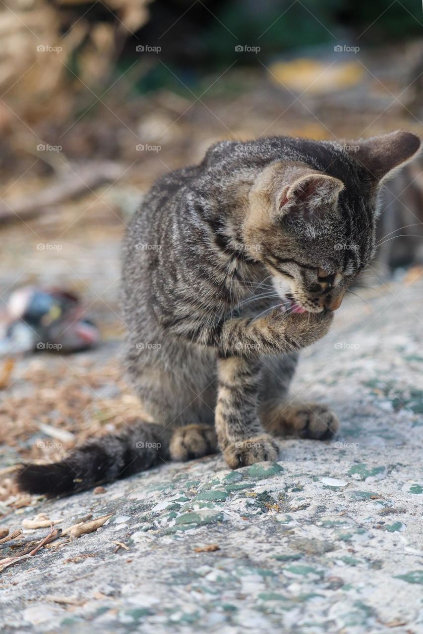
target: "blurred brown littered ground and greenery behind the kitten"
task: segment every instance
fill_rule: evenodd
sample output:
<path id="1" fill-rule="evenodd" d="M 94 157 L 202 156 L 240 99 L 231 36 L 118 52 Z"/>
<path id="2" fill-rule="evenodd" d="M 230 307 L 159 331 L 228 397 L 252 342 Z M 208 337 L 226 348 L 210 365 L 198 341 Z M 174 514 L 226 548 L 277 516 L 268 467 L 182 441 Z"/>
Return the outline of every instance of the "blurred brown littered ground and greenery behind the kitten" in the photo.
<path id="1" fill-rule="evenodd" d="M 4 320 L 18 288 L 55 287 L 81 301 L 68 334 L 83 321 L 87 340 L 102 341 L 59 359 L 3 354 L 6 463 L 18 446 L 55 457 L 137 415 L 115 343 L 119 243 L 154 179 L 220 139 L 421 135 L 422 27 L 412 0 L 0 4 Z M 386 191 L 373 269 L 385 283 L 398 267 L 419 267 L 422 193 L 419 161 Z"/>

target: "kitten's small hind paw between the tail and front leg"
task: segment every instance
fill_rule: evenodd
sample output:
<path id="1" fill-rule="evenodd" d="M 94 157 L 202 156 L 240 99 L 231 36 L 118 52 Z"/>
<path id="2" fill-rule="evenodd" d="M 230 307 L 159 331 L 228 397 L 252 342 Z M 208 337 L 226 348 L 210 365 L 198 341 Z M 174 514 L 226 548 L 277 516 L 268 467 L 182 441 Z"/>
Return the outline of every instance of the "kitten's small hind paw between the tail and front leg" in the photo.
<path id="1" fill-rule="evenodd" d="M 213 425 L 177 427 L 170 440 L 172 460 L 192 460 L 216 453 L 217 450 L 217 436 Z"/>

